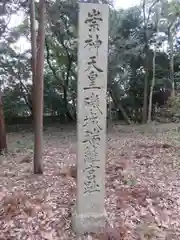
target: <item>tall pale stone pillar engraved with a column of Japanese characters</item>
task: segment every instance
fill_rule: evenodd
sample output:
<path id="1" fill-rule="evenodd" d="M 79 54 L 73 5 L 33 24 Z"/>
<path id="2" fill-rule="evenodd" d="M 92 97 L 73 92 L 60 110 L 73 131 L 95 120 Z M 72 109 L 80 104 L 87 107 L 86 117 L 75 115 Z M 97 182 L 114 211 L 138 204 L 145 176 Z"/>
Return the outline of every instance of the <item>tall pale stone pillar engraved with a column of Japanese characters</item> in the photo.
<path id="1" fill-rule="evenodd" d="M 76 232 L 105 224 L 108 15 L 105 4 L 80 3 Z"/>

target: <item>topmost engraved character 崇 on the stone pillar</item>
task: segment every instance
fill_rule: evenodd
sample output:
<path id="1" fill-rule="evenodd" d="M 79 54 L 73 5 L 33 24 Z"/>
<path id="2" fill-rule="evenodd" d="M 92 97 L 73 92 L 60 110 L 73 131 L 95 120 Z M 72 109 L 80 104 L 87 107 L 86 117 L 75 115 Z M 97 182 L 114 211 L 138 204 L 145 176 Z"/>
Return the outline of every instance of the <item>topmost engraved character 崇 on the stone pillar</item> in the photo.
<path id="1" fill-rule="evenodd" d="M 88 12 L 88 17 L 85 20 L 85 23 L 89 24 L 89 32 L 99 31 L 100 22 L 103 22 L 103 19 L 99 10 L 92 9 L 92 12 Z"/>

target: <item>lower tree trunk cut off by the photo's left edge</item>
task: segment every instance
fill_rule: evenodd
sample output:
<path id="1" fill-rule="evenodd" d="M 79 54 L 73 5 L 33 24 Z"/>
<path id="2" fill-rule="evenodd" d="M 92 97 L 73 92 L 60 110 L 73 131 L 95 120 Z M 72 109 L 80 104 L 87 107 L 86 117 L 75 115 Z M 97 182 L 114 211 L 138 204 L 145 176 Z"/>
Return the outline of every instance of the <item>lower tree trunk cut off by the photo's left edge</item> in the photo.
<path id="1" fill-rule="evenodd" d="M 0 154 L 7 153 L 6 129 L 4 121 L 3 102 L 0 95 Z"/>

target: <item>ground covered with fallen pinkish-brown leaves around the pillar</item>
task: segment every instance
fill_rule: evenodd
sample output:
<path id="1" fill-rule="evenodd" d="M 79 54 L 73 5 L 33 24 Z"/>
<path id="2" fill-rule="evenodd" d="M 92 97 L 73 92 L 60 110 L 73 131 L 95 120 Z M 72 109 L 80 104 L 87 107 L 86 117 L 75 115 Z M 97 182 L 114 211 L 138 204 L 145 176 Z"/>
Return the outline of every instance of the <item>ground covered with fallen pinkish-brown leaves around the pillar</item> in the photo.
<path id="1" fill-rule="evenodd" d="M 108 223 L 81 239 L 180 239 L 180 136 L 175 124 L 109 127 Z M 32 173 L 33 136 L 8 134 L 0 157 L 0 240 L 73 240 L 76 176 L 73 126 L 44 132 L 44 174 Z M 69 174 L 68 174 L 69 173 Z"/>

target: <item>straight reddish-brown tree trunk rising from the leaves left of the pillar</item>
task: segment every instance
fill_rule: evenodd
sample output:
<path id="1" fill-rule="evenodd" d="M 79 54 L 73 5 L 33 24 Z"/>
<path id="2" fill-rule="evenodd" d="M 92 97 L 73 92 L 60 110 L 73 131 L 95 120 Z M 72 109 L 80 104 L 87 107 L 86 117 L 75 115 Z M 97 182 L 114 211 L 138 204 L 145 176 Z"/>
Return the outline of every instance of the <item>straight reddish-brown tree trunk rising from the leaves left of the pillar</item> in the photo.
<path id="1" fill-rule="evenodd" d="M 38 48 L 35 71 L 35 84 L 33 89 L 34 104 L 34 173 L 42 174 L 43 155 L 43 106 L 44 106 L 44 45 L 45 45 L 45 0 L 39 2 L 39 28 L 38 28 Z"/>

